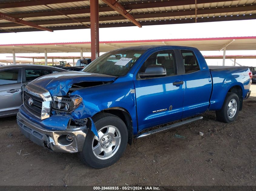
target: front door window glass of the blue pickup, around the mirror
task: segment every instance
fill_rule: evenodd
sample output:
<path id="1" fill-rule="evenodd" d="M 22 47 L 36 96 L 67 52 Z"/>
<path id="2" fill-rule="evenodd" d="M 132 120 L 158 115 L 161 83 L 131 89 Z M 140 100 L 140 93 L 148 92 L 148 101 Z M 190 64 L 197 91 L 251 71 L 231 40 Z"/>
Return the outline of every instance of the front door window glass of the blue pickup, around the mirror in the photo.
<path id="1" fill-rule="evenodd" d="M 163 65 L 166 69 L 166 76 L 177 75 L 177 68 L 173 50 L 163 50 L 153 53 L 141 66 L 139 72 L 145 72 L 145 69 L 149 65 Z"/>

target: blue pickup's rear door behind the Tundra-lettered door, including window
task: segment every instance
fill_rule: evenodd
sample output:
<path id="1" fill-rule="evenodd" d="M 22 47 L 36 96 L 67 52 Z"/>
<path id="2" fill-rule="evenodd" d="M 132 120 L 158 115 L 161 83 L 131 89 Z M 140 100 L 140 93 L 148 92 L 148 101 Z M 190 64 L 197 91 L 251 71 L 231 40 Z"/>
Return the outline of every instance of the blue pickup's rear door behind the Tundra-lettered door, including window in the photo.
<path id="1" fill-rule="evenodd" d="M 198 51 L 199 54 L 201 54 Z M 201 67 L 198 58 L 192 50 L 181 50 L 182 65 L 185 69 L 184 102 L 182 118 L 205 112 L 209 107 L 211 96 L 211 74 L 208 67 Z M 205 62 L 204 58 L 200 58 Z M 205 63 L 206 65 L 206 63 Z"/>

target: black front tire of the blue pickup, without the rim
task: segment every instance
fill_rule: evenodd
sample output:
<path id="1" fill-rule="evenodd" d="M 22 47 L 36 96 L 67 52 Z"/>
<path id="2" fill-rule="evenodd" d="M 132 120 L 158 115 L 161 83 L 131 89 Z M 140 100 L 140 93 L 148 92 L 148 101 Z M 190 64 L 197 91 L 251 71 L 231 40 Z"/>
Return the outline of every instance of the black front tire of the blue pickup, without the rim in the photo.
<path id="1" fill-rule="evenodd" d="M 80 160 L 84 164 L 93 168 L 105 168 L 118 161 L 124 153 L 128 142 L 127 127 L 122 119 L 109 113 L 99 113 L 92 117 L 92 120 L 94 121 L 97 131 L 105 126 L 114 126 L 119 130 L 121 135 L 121 144 L 116 153 L 110 158 L 104 160 L 97 158 L 92 151 L 92 142 L 95 137 L 94 133 L 89 130 L 86 135 L 83 151 L 78 153 Z"/>

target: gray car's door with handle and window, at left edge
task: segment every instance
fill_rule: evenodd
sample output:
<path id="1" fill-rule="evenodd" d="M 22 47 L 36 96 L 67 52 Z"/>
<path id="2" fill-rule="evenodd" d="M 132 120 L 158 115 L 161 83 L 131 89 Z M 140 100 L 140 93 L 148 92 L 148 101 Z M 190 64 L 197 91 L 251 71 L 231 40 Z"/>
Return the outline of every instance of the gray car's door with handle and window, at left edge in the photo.
<path id="1" fill-rule="evenodd" d="M 21 68 L 0 70 L 0 115 L 18 113 L 22 104 Z"/>

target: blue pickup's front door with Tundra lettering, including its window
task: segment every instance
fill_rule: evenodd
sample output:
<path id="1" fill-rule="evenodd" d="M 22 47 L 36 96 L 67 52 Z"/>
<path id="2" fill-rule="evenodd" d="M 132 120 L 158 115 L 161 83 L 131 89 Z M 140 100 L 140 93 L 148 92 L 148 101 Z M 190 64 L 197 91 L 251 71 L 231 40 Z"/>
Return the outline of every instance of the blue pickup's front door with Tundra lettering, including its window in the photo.
<path id="1" fill-rule="evenodd" d="M 183 113 L 184 85 L 182 75 L 177 72 L 175 52 L 163 50 L 151 54 L 139 72 L 145 72 L 145 68 L 152 64 L 164 65 L 166 76 L 140 78 L 137 75 L 134 81 L 139 132 L 181 119 Z"/>

